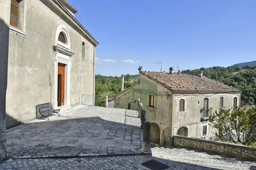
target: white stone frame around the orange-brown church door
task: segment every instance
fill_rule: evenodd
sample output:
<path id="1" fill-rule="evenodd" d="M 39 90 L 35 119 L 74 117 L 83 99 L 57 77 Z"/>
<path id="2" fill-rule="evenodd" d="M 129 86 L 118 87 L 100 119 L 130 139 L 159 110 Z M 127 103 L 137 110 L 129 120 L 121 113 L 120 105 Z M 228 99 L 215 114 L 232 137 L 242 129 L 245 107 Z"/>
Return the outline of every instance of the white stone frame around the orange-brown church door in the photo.
<path id="1" fill-rule="evenodd" d="M 57 51 L 55 56 L 55 93 L 54 108 L 58 108 L 58 63 L 65 64 L 64 74 L 64 106 L 70 106 L 70 62 L 71 57 Z"/>

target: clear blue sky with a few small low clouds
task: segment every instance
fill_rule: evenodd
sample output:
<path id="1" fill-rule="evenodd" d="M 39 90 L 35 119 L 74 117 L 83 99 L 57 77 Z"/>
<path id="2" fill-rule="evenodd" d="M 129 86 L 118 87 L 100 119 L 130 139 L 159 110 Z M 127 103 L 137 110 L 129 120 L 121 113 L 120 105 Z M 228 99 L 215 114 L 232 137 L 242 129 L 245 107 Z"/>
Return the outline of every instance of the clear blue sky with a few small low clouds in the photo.
<path id="1" fill-rule="evenodd" d="M 68 0 L 99 41 L 96 74 L 256 60 L 255 0 Z"/>

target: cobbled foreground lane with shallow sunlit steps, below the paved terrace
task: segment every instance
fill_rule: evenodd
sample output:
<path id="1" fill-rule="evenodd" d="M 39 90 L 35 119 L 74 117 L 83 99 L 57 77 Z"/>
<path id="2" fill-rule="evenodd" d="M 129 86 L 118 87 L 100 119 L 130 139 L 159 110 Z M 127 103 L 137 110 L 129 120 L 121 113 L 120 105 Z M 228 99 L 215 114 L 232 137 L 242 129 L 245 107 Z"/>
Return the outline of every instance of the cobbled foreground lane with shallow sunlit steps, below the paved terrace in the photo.
<path id="1" fill-rule="evenodd" d="M 154 147 L 154 156 L 100 156 L 66 159 L 15 159 L 0 164 L 0 170 L 149 170 L 141 165 L 155 159 L 168 170 L 256 170 L 256 162 L 219 156 L 192 148 Z"/>

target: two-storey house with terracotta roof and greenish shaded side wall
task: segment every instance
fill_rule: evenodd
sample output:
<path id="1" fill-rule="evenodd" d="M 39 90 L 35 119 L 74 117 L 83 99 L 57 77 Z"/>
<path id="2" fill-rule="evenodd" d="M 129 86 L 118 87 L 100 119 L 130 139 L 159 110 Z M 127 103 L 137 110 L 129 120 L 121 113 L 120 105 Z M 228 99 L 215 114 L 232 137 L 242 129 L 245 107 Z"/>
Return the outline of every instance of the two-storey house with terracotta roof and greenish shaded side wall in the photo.
<path id="1" fill-rule="evenodd" d="M 140 99 L 151 122 L 151 142 L 169 144 L 173 135 L 214 140 L 209 115 L 240 104 L 241 91 L 199 75 L 140 71 L 140 82 L 115 95 Z"/>

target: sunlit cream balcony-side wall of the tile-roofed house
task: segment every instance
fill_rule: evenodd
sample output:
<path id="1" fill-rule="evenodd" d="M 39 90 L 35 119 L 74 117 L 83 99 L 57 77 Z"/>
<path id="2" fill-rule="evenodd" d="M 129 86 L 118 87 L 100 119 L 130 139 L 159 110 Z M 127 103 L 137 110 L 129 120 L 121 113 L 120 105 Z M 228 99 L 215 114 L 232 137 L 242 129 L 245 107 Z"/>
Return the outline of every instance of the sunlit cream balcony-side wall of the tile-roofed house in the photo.
<path id="1" fill-rule="evenodd" d="M 234 97 L 238 98 L 238 101 L 240 99 L 240 94 L 204 94 L 204 95 L 198 95 L 198 94 L 180 94 L 173 96 L 173 114 L 172 114 L 172 122 L 173 127 L 177 126 L 185 126 L 188 128 L 188 136 L 190 137 L 205 137 L 205 139 L 209 139 L 209 137 L 215 136 L 215 129 L 212 129 L 211 126 L 209 126 L 209 121 L 206 122 L 200 122 L 200 119 L 202 117 L 202 113 L 200 113 L 200 110 L 204 107 L 204 98 L 209 99 L 209 109 L 210 113 L 215 112 L 216 110 L 219 110 L 220 107 L 220 97 L 224 98 L 223 105 L 226 108 L 233 107 L 233 99 Z M 179 112 L 179 101 L 180 99 L 185 100 L 185 111 Z M 199 102 L 199 104 L 198 104 Z M 190 123 L 196 123 L 193 125 L 186 125 Z M 203 136 L 203 126 L 207 125 L 207 136 Z M 174 135 L 177 134 L 177 130 L 179 128 L 174 128 Z"/>

